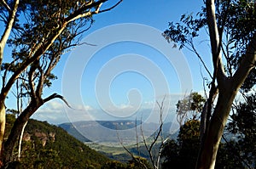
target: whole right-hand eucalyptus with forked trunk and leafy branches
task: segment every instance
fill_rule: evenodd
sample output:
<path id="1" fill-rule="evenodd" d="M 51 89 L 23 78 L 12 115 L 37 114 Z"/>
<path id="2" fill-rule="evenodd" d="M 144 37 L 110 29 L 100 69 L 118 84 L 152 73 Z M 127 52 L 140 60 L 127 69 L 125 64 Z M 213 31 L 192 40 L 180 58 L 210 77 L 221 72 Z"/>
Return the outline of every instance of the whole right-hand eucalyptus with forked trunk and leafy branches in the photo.
<path id="1" fill-rule="evenodd" d="M 206 0 L 204 3 L 196 17 L 183 14 L 180 23 L 171 22 L 164 36 L 168 41 L 177 42 L 180 48 L 195 52 L 211 77 L 209 97 L 201 115 L 197 168 L 212 169 L 232 103 L 250 71 L 255 69 L 256 3 L 246 0 Z M 203 28 L 211 44 L 212 72 L 195 48 L 195 38 Z M 216 95 L 217 104 L 212 109 Z"/>

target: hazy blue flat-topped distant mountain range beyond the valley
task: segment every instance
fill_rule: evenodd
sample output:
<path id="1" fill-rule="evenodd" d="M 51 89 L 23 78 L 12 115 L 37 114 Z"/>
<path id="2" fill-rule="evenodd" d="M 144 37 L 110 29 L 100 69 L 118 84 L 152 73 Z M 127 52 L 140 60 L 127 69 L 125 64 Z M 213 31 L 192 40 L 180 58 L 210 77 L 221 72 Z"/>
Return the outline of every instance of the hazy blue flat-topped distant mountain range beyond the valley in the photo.
<path id="1" fill-rule="evenodd" d="M 95 143 L 135 143 L 143 135 L 146 138 L 154 135 L 159 124 L 140 121 L 76 121 L 59 125 L 73 137 L 82 142 Z M 171 131 L 172 122 L 164 123 L 163 134 L 167 137 L 176 131 Z M 173 136 L 172 136 L 173 137 Z"/>

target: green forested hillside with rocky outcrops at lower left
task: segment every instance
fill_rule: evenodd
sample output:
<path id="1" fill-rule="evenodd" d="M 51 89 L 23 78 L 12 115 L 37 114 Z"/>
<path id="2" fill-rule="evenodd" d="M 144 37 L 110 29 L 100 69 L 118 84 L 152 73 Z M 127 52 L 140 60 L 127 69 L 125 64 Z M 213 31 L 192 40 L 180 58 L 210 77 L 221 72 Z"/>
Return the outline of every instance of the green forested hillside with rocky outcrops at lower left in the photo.
<path id="1" fill-rule="evenodd" d="M 15 116 L 7 115 L 7 121 L 7 128 L 10 128 Z M 46 121 L 27 123 L 20 158 L 22 168 L 101 168 L 107 161 L 110 160 L 106 156 L 90 149 L 61 127 Z"/>

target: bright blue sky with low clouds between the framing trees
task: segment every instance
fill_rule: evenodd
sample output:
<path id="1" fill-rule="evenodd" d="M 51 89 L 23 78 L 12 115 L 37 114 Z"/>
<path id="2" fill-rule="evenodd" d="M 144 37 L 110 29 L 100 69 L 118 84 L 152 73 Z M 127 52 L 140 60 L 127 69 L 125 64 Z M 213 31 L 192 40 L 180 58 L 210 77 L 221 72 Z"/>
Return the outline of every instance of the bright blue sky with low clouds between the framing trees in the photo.
<path id="1" fill-rule="evenodd" d="M 207 73 L 194 54 L 185 49 L 177 51 L 177 48 L 172 48 L 172 44 L 168 44 L 160 32 L 166 30 L 169 21 L 179 21 L 181 14 L 196 14 L 201 5 L 202 1 L 188 0 L 124 0 L 113 10 L 96 15 L 95 23 L 84 33 L 84 41 L 102 48 L 96 47 L 96 52 L 89 54 L 88 51 L 95 49 L 87 45 L 65 54 L 54 70 L 58 79 L 44 92 L 45 96 L 55 92 L 63 94 L 74 110 L 67 108 L 59 100 L 53 100 L 32 117 L 55 124 L 67 121 L 135 119 L 142 116 L 145 121 L 157 122 L 159 115 L 155 102 L 166 96 L 166 119 L 173 121 L 177 100 L 192 89 L 201 92 L 201 70 L 204 76 Z M 125 31 L 124 28 L 114 33 L 118 35 L 120 32 L 124 36 L 127 33 L 128 37 L 132 37 L 131 40 L 125 40 L 124 37 L 124 41 L 119 39 L 111 42 L 109 39 L 113 38 L 114 33 L 108 32 L 117 29 L 115 25 L 127 23 L 130 23 L 131 29 L 143 28 L 153 33 L 145 36 L 143 31 L 137 31 L 131 36 L 132 31 Z M 101 34 L 103 31 L 107 33 Z M 95 37 L 97 35 L 104 36 Z M 134 40 L 140 35 L 146 42 Z M 200 41 L 206 38 L 201 37 Z M 157 42 L 159 43 L 156 44 Z M 168 45 L 168 49 L 164 48 Z M 211 70 L 211 60 L 207 59 L 210 58 L 207 53 L 209 47 L 201 48 L 200 42 L 198 47 Z M 79 69 L 75 62 L 72 64 L 73 58 L 79 54 L 82 54 L 79 59 L 83 63 L 83 69 Z M 169 54 L 177 57 L 170 62 Z M 181 58 L 178 58 L 179 55 Z M 88 59 L 87 62 L 85 59 Z M 185 78 L 183 71 L 187 70 L 190 75 L 188 82 L 181 84 L 181 79 Z"/>

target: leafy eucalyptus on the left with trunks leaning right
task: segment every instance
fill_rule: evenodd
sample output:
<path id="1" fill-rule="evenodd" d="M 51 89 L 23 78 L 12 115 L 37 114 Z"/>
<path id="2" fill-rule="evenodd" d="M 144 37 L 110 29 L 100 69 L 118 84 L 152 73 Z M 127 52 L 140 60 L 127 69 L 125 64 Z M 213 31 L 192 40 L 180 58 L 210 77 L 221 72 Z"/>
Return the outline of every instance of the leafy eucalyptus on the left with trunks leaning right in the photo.
<path id="1" fill-rule="evenodd" d="M 93 15 L 107 12 L 120 2 L 121 0 L 114 4 L 108 4 L 108 0 L 0 2 L 0 20 L 4 25 L 0 42 L 0 65 L 3 72 L 0 92 L 1 166 L 12 160 L 13 147 L 28 118 L 49 100 L 63 99 L 57 93 L 43 99 L 44 87 L 50 86 L 51 80 L 55 79 L 51 71 L 61 59 L 61 54 L 79 44 L 79 36 L 90 28 Z M 109 8 L 101 9 L 103 3 Z M 11 54 L 3 53 L 7 43 L 12 48 Z M 9 58 L 6 58 L 7 55 Z M 3 63 L 3 60 L 10 61 Z M 29 102 L 20 112 L 3 146 L 5 101 L 17 80 L 20 80 L 20 87 L 23 88 L 20 97 L 28 97 Z"/>

